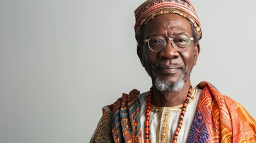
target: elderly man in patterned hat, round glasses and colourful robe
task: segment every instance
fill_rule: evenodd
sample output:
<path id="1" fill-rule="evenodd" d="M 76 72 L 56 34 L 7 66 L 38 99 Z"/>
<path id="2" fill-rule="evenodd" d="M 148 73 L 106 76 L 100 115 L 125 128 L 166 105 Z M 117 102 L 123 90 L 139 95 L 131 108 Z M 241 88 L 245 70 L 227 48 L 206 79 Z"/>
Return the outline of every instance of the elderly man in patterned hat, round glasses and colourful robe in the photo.
<path id="1" fill-rule="evenodd" d="M 137 54 L 152 79 L 103 116 L 91 142 L 256 142 L 256 122 L 238 102 L 190 73 L 200 52 L 200 21 L 189 0 L 149 0 L 135 10 Z"/>

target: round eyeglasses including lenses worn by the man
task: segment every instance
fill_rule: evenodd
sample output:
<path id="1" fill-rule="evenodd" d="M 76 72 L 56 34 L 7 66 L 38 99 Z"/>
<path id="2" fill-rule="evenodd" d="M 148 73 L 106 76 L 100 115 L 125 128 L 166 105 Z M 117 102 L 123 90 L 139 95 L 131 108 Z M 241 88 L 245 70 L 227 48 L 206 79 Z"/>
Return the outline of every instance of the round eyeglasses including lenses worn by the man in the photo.
<path id="1" fill-rule="evenodd" d="M 162 36 L 152 36 L 149 39 L 144 39 L 144 42 L 147 42 L 149 48 L 154 52 L 160 52 L 166 46 L 166 40 L 172 41 L 171 45 L 177 51 L 185 51 L 190 46 L 190 41 L 194 40 L 194 38 L 189 38 L 186 35 L 178 35 L 174 38 L 164 38 Z"/>

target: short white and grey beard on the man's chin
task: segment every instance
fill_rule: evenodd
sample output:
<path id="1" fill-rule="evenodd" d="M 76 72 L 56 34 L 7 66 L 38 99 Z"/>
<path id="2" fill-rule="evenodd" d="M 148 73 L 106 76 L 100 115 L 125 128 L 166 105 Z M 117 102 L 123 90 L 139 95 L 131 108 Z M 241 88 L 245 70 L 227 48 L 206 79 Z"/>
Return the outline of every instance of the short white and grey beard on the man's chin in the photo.
<path id="1" fill-rule="evenodd" d="M 155 86 L 161 92 L 181 91 L 181 89 L 185 85 L 183 78 L 184 78 L 184 75 L 181 76 L 181 78 L 177 82 L 166 82 L 164 80 L 159 79 L 159 77 L 156 77 Z"/>

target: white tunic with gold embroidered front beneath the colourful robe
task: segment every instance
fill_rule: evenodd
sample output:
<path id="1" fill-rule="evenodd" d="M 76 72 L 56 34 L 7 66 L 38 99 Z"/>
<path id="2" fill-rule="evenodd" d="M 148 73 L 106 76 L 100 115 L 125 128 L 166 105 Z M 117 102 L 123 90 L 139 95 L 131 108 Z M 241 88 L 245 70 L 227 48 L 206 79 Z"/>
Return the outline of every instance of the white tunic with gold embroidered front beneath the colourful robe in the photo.
<path id="1" fill-rule="evenodd" d="M 199 96 L 202 90 L 194 88 L 192 96 L 187 105 L 187 110 L 183 118 L 183 124 L 181 126 L 180 133 L 178 133 L 177 142 L 186 142 L 190 133 L 190 129 L 193 123 L 193 118 L 196 113 L 196 107 L 198 105 Z M 144 122 L 146 120 L 146 96 L 148 92 L 138 95 L 141 102 L 141 133 L 144 141 Z M 156 107 L 151 105 L 150 110 L 150 142 L 172 142 L 174 132 L 178 126 L 178 119 L 180 118 L 181 108 L 183 104 L 177 105 L 175 107 Z"/>

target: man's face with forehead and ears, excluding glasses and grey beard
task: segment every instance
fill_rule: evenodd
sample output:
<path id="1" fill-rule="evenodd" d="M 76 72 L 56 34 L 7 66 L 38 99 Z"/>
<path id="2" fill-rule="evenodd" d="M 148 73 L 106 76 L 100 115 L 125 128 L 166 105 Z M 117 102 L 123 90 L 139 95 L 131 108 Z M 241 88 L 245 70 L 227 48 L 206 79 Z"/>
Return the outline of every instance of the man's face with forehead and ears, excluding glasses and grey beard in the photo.
<path id="1" fill-rule="evenodd" d="M 152 36 L 162 36 L 164 38 L 174 38 L 177 35 L 193 37 L 191 24 L 177 14 L 162 14 L 153 18 L 144 27 L 144 39 Z M 172 41 L 166 41 L 166 46 L 160 52 L 153 52 L 147 43 L 138 45 L 138 56 L 145 67 L 147 73 L 153 80 L 158 78 L 164 82 L 175 83 L 183 79 L 189 79 L 190 72 L 196 64 L 200 51 L 199 43 L 191 41 L 189 48 L 185 51 L 176 51 Z"/>

